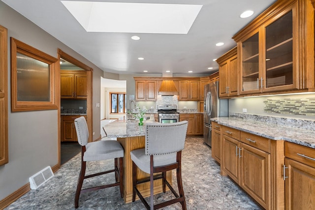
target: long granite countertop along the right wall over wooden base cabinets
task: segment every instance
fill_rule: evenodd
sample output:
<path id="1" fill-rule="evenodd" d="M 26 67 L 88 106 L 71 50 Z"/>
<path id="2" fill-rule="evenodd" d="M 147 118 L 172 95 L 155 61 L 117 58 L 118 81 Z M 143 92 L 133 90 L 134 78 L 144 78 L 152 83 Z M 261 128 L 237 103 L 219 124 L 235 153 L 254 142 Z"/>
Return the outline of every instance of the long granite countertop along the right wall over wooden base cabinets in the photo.
<path id="1" fill-rule="evenodd" d="M 252 133 L 272 140 L 284 140 L 315 149 L 315 131 L 290 126 L 275 125 L 237 117 L 212 118 L 218 124 Z"/>

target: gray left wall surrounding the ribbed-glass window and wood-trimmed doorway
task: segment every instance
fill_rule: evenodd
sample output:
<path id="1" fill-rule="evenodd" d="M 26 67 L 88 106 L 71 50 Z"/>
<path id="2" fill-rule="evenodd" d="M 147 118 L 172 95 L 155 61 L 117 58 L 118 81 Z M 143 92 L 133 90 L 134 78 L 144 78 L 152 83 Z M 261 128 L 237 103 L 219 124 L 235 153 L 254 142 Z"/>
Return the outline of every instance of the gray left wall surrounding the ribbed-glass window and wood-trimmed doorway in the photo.
<path id="1" fill-rule="evenodd" d="M 41 30 L 28 19 L 0 1 L 0 25 L 8 29 L 8 95 L 11 94 L 10 40 L 14 37 L 57 58 L 57 48 L 82 61 L 93 71 L 93 131 L 100 136 L 100 77 L 103 71 L 62 42 Z M 56 29 L 58 30 L 58 29 Z M 0 200 L 29 183 L 29 177 L 46 166 L 58 164 L 58 111 L 11 112 L 8 98 L 9 163 L 0 166 Z"/>

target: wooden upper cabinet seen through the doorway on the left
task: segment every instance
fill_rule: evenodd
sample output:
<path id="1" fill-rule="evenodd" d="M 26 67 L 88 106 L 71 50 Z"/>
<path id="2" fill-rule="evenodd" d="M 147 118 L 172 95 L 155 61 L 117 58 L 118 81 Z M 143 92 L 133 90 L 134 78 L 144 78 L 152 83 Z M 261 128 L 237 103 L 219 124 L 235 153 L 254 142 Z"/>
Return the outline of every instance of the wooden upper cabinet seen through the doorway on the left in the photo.
<path id="1" fill-rule="evenodd" d="M 61 71 L 61 98 L 87 98 L 87 75 L 85 71 Z"/>

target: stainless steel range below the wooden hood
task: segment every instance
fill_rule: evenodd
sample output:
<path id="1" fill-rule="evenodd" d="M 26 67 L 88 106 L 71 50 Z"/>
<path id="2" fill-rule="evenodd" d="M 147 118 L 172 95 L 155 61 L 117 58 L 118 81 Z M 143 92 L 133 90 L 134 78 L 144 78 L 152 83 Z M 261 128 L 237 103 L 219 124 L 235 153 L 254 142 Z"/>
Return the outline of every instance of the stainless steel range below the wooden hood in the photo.
<path id="1" fill-rule="evenodd" d="M 158 105 L 158 122 L 174 123 L 179 121 L 177 105 Z"/>

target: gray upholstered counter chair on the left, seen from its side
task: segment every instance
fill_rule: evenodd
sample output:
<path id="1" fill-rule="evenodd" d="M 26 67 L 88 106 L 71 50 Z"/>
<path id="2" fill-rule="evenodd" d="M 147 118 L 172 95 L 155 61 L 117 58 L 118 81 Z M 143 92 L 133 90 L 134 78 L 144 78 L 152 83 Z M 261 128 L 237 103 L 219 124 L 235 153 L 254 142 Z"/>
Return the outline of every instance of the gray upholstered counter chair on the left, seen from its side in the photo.
<path id="1" fill-rule="evenodd" d="M 79 197 L 81 192 L 89 192 L 93 190 L 103 189 L 112 186 L 120 186 L 121 197 L 123 197 L 123 157 L 124 149 L 122 145 L 113 140 L 109 141 L 97 141 L 88 143 L 89 130 L 88 124 L 84 117 L 80 117 L 74 120 L 75 129 L 78 136 L 78 143 L 81 145 L 81 171 L 78 180 L 78 186 L 74 199 L 74 207 L 79 207 Z M 99 161 L 115 159 L 115 166 L 113 170 L 104 171 L 100 173 L 85 175 L 86 162 L 87 161 Z M 118 169 L 119 159 L 119 169 Z M 101 186 L 95 186 L 88 189 L 82 189 L 83 181 L 88 178 L 96 177 L 107 173 L 115 173 L 115 183 L 105 184 Z"/>

